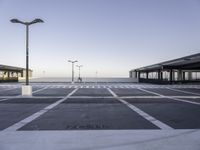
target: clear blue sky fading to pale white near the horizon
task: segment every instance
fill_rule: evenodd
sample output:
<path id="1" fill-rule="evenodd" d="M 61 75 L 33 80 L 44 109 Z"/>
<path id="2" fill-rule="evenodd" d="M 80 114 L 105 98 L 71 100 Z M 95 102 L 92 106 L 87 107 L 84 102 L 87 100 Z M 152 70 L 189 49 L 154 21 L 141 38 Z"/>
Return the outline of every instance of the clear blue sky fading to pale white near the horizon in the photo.
<path id="1" fill-rule="evenodd" d="M 0 0 L 0 64 L 34 77 L 128 77 L 129 70 L 200 52 L 200 0 Z M 75 68 L 78 74 L 78 68 Z"/>

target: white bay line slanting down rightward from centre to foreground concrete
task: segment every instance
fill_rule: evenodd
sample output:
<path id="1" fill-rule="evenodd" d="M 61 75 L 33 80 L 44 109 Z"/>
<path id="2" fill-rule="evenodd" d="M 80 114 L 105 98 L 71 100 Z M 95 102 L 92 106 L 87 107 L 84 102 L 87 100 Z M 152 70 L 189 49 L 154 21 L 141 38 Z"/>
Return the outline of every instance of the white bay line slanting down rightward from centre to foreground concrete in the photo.
<path id="1" fill-rule="evenodd" d="M 111 89 L 108 88 L 108 91 L 114 96 L 116 97 L 116 99 L 118 101 L 120 101 L 121 103 L 125 104 L 127 107 L 129 107 L 131 110 L 133 110 L 134 112 L 138 113 L 140 116 L 142 116 L 143 118 L 145 118 L 146 120 L 148 120 L 149 122 L 151 122 L 152 124 L 154 124 L 155 126 L 159 127 L 160 129 L 163 130 L 172 130 L 173 128 L 164 124 L 163 122 L 157 120 L 156 118 L 150 116 L 149 114 L 145 113 L 144 111 L 142 111 L 141 109 L 137 108 L 136 106 L 126 102 L 125 100 L 118 98 L 117 94 L 115 94 Z"/>

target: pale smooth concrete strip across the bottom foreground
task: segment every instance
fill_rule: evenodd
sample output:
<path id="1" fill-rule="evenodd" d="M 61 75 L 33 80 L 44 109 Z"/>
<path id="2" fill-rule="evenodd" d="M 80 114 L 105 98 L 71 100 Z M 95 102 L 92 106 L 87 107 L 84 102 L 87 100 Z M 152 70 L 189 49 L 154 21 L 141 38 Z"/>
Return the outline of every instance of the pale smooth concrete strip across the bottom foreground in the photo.
<path id="1" fill-rule="evenodd" d="M 1 150 L 199 150 L 200 130 L 0 132 Z"/>

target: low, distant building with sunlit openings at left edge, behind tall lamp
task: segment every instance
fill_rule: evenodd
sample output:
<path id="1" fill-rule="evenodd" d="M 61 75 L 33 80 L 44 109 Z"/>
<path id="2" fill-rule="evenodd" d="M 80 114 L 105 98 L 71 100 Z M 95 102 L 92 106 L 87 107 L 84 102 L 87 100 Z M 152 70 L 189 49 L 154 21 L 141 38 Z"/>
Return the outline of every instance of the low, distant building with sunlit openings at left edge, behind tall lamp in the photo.
<path id="1" fill-rule="evenodd" d="M 32 77 L 32 72 L 29 69 L 29 77 Z M 0 65 L 0 82 L 18 82 L 19 77 L 23 78 L 25 76 L 25 68 Z"/>

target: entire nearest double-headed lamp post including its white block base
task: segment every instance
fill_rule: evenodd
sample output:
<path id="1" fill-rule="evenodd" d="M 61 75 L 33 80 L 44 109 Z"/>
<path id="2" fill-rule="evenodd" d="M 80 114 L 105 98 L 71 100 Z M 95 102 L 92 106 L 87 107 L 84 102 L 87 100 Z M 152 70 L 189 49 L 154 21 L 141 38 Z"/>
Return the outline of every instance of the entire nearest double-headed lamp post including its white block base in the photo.
<path id="1" fill-rule="evenodd" d="M 11 19 L 10 21 L 26 26 L 26 86 L 22 88 L 22 95 L 32 95 L 32 88 L 29 86 L 29 26 L 36 23 L 43 23 L 44 21 L 39 18 L 36 18 L 31 22 L 23 22 L 18 19 Z"/>

